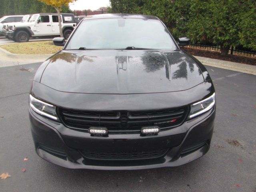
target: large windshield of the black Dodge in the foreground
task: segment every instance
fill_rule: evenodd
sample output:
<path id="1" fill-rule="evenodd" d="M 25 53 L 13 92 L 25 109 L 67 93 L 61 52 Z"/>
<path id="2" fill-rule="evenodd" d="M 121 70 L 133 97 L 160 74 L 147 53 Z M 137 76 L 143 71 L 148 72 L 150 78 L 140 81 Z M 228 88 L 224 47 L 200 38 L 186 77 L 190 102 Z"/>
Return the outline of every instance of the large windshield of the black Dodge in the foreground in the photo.
<path id="1" fill-rule="evenodd" d="M 176 49 L 159 20 L 110 18 L 84 20 L 66 49 Z"/>

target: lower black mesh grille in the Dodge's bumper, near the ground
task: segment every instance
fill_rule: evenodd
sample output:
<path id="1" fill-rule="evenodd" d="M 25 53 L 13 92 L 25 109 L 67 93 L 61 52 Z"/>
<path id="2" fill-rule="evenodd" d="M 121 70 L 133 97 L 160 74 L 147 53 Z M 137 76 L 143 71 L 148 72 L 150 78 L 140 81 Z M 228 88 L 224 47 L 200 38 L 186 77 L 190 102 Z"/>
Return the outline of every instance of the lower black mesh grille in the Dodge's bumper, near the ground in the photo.
<path id="1" fill-rule="evenodd" d="M 85 158 L 94 160 L 141 160 L 164 156 L 168 149 L 131 152 L 90 152 L 80 151 Z"/>

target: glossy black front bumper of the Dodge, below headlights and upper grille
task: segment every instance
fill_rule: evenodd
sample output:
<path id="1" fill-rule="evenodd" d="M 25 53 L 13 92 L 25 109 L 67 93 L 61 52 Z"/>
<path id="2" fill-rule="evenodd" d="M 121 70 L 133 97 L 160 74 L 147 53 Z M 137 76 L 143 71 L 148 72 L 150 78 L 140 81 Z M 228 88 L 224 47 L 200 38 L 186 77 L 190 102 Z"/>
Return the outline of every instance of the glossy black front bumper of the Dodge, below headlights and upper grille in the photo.
<path id="1" fill-rule="evenodd" d="M 215 108 L 181 126 L 155 136 L 110 134 L 107 138 L 72 130 L 29 110 L 36 153 L 48 162 L 72 169 L 136 170 L 180 166 L 200 158 L 210 148 Z M 92 160 L 81 150 L 126 151 L 168 148 L 161 157 L 145 160 Z"/>

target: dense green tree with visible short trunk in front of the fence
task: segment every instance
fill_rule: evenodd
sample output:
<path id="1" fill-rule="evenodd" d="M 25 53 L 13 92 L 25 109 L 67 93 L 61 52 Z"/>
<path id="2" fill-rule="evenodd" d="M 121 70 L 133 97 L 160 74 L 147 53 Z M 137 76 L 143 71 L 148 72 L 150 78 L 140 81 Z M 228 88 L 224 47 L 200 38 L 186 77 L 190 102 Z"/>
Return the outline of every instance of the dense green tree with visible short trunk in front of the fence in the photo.
<path id="1" fill-rule="evenodd" d="M 192 0 L 186 34 L 193 42 L 207 40 L 220 45 L 221 54 L 226 55 L 230 46 L 239 44 L 238 22 L 243 10 L 241 0 Z"/>

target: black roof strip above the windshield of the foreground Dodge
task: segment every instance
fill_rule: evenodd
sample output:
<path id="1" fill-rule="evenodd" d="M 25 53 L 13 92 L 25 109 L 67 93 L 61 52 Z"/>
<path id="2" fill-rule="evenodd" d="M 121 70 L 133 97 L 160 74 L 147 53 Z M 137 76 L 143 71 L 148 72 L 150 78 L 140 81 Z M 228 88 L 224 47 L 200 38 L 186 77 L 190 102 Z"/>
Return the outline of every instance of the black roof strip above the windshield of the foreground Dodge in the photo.
<path id="1" fill-rule="evenodd" d="M 84 18 L 84 20 L 106 19 L 106 18 L 136 18 L 136 19 L 154 19 L 154 20 L 159 20 L 159 18 L 157 18 L 156 16 L 152 16 L 152 15 L 124 14 L 124 13 L 90 15 L 90 16 L 86 16 Z"/>

